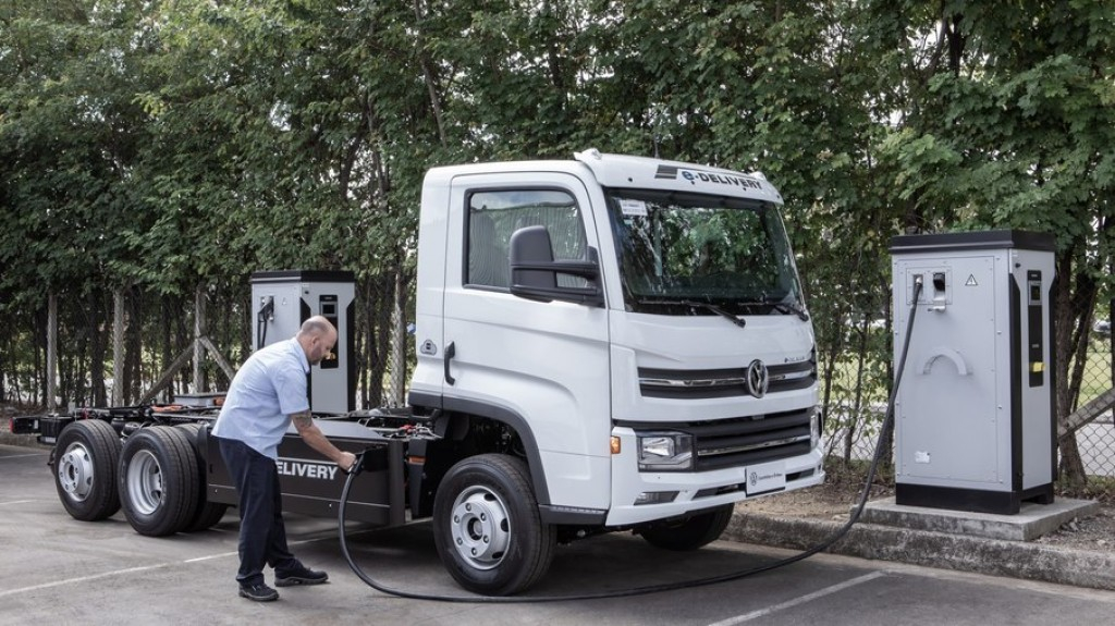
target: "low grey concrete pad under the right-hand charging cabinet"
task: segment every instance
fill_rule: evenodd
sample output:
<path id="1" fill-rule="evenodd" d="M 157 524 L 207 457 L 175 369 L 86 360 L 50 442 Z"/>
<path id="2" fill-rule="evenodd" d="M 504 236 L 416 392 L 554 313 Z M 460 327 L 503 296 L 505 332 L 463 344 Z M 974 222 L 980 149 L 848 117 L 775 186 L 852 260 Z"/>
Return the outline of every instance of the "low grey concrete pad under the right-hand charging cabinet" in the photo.
<path id="1" fill-rule="evenodd" d="M 891 497 L 867 502 L 860 521 L 1006 541 L 1032 541 L 1075 518 L 1098 511 L 1099 502 L 1069 498 L 1057 498 L 1051 505 L 1022 502 L 1016 515 L 995 515 L 896 505 Z"/>

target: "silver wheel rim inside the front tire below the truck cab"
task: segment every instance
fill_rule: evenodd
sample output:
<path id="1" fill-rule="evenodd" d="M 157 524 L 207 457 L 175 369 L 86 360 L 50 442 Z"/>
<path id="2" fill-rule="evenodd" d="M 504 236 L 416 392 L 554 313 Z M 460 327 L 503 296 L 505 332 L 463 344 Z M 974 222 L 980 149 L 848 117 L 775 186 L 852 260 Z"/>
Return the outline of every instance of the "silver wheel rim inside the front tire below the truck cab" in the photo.
<path id="1" fill-rule="evenodd" d="M 471 487 L 453 502 L 453 547 L 476 569 L 492 569 L 503 561 L 511 545 L 507 505 L 486 487 Z"/>

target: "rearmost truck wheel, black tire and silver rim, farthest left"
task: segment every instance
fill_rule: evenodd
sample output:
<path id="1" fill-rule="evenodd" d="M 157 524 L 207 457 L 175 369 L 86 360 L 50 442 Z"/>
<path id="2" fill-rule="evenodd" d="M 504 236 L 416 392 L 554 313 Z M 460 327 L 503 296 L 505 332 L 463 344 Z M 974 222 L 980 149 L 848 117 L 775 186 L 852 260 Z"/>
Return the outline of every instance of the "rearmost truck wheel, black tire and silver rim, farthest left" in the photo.
<path id="1" fill-rule="evenodd" d="M 100 420 L 78 420 L 58 436 L 52 469 L 58 499 L 81 521 L 99 521 L 120 510 L 116 464 L 120 437 Z"/>

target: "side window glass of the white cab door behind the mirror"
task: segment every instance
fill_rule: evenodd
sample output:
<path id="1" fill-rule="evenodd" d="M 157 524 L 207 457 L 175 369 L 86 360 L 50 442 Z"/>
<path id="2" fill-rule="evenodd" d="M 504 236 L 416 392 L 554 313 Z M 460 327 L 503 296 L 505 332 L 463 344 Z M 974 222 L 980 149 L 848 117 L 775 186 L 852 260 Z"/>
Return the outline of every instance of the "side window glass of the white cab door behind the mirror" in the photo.
<path id="1" fill-rule="evenodd" d="M 526 226 L 545 226 L 555 260 L 584 260 L 588 243 L 581 209 L 566 192 L 558 189 L 502 189 L 476 192 L 468 197 L 468 265 L 465 284 L 508 288 L 511 235 Z M 559 275 L 562 286 L 585 286 L 578 276 Z"/>

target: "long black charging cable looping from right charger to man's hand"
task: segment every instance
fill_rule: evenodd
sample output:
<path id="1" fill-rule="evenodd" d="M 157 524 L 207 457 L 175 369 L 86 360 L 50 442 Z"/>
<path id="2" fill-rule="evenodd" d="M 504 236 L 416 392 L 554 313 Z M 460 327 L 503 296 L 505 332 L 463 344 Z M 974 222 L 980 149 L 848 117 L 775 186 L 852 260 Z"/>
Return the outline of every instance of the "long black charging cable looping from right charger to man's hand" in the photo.
<path id="1" fill-rule="evenodd" d="M 565 596 L 444 596 L 437 594 L 418 594 L 414 591 L 405 591 L 401 589 L 394 589 L 387 587 L 381 583 L 378 583 L 370 576 L 368 576 L 362 568 L 352 559 L 352 554 L 349 551 L 348 537 L 345 530 L 345 519 L 346 509 L 348 507 L 349 492 L 352 489 L 352 481 L 360 473 L 363 466 L 363 454 L 361 452 L 357 456 L 357 462 L 349 472 L 348 479 L 345 481 L 345 489 L 341 491 L 340 509 L 338 511 L 338 535 L 340 537 L 341 554 L 345 556 L 345 560 L 348 561 L 349 567 L 352 569 L 353 574 L 358 578 L 363 580 L 369 587 L 388 594 L 391 596 L 397 596 L 400 598 L 416 599 L 416 600 L 435 600 L 444 603 L 469 603 L 469 604 L 531 604 L 531 603 L 553 603 L 553 601 L 568 601 L 568 600 L 594 600 L 604 598 L 622 598 L 630 596 L 641 596 L 647 594 L 657 594 L 661 591 L 673 591 L 678 589 L 688 589 L 691 587 L 701 587 L 705 585 L 715 585 L 717 583 L 727 583 L 729 580 L 738 580 L 747 576 L 753 576 L 755 574 L 760 574 L 763 571 L 770 571 L 772 569 L 777 569 L 779 567 L 785 567 L 791 564 L 795 564 L 799 560 L 805 560 L 817 552 L 822 552 L 833 546 L 836 541 L 840 541 L 847 535 L 849 530 L 852 529 L 859 520 L 860 516 L 863 515 L 863 509 L 867 505 L 867 498 L 871 493 L 871 485 L 875 480 L 875 473 L 879 470 L 879 463 L 883 458 L 883 447 L 882 442 L 886 440 L 886 436 L 894 428 L 894 401 L 898 397 L 899 384 L 902 382 L 902 374 L 905 371 L 906 354 L 910 351 L 910 336 L 913 329 L 913 319 L 918 313 L 918 297 L 921 295 L 923 288 L 922 277 L 914 277 L 913 286 L 913 302 L 910 305 L 910 319 L 906 322 L 905 338 L 902 341 L 902 353 L 899 358 L 896 370 L 894 372 L 894 387 L 891 389 L 890 398 L 886 400 L 886 414 L 883 418 L 883 426 L 879 430 L 879 439 L 875 441 L 875 452 L 872 454 L 871 464 L 867 468 L 867 478 L 864 480 L 863 491 L 860 493 L 859 502 L 852 515 L 849 516 L 849 520 L 837 529 L 832 537 L 828 537 L 824 541 L 808 548 L 807 550 L 796 554 L 794 556 L 777 560 L 767 565 L 762 565 L 758 567 L 753 567 L 750 569 L 744 569 L 739 571 L 731 571 L 728 574 L 721 574 L 719 576 L 709 576 L 706 578 L 696 578 L 691 580 L 682 580 L 678 583 L 666 583 L 661 585 L 648 585 L 643 587 L 632 587 L 630 589 L 618 589 L 613 591 L 601 591 L 597 594 L 574 594 Z"/>

